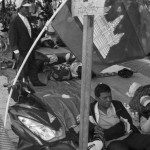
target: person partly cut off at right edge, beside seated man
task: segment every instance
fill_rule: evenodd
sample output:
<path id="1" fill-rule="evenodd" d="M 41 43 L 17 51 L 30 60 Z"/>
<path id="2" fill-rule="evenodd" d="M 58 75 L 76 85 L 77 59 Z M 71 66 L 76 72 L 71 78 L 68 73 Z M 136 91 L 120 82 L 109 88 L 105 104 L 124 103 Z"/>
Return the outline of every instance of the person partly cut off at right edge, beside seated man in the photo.
<path id="1" fill-rule="evenodd" d="M 129 105 L 139 113 L 141 131 L 150 134 L 150 84 L 140 86 Z"/>

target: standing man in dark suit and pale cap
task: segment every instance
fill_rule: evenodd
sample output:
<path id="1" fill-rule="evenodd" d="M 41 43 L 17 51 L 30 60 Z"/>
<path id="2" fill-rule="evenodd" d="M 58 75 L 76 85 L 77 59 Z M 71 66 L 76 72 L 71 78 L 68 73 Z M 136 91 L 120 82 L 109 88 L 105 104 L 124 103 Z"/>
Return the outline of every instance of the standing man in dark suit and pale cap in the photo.
<path id="1" fill-rule="evenodd" d="M 31 4 L 26 0 L 16 0 L 15 3 L 18 14 L 10 23 L 9 41 L 10 48 L 13 51 L 13 59 L 16 59 L 17 68 L 19 68 L 33 43 L 34 37 L 31 23 L 27 18 Z M 33 51 L 24 65 L 19 80 L 23 78 L 27 80 L 29 77 L 34 86 L 44 86 L 45 84 L 38 79 L 37 64 L 34 55 Z"/>

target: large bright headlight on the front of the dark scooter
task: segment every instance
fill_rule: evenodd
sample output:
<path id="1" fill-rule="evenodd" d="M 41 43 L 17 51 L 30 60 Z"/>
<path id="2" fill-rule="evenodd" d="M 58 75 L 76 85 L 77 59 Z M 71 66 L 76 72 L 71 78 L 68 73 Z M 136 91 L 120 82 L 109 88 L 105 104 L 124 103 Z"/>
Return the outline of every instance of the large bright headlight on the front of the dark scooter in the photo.
<path id="1" fill-rule="evenodd" d="M 44 126 L 41 123 L 38 123 L 25 117 L 19 116 L 18 118 L 27 128 L 29 128 L 34 134 L 39 136 L 44 141 L 49 141 L 53 138 L 61 136 L 61 130 L 55 131 L 50 127 Z"/>

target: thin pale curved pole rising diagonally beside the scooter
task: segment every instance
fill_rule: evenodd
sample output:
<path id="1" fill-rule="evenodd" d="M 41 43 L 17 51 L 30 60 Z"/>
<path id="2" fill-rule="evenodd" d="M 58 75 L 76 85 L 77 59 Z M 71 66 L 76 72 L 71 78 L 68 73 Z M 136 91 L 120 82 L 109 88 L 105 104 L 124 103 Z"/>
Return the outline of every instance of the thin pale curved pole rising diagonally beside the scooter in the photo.
<path id="1" fill-rule="evenodd" d="M 21 71 L 22 71 L 22 68 L 24 67 L 24 65 L 25 65 L 25 63 L 26 63 L 28 57 L 30 56 L 30 54 L 31 54 L 31 52 L 32 52 L 32 50 L 33 50 L 33 48 L 35 47 L 35 45 L 36 45 L 37 42 L 39 41 L 40 37 L 43 35 L 44 31 L 47 30 L 48 25 L 52 22 L 52 20 L 55 18 L 55 16 L 56 16 L 57 13 L 61 10 L 61 8 L 66 4 L 66 2 L 67 2 L 67 0 L 64 0 L 64 1 L 62 2 L 62 4 L 58 7 L 58 9 L 54 12 L 54 14 L 52 15 L 52 17 L 46 22 L 46 24 L 45 24 L 45 26 L 43 27 L 42 31 L 40 32 L 40 34 L 38 35 L 38 37 L 36 38 L 36 40 L 35 40 L 34 43 L 32 44 L 30 50 L 28 51 L 28 53 L 27 53 L 27 55 L 26 55 L 26 57 L 25 57 L 25 59 L 24 59 L 22 65 L 21 65 L 21 67 L 19 68 L 19 70 L 18 70 L 18 72 L 17 72 L 17 75 L 16 75 L 16 77 L 15 77 L 15 79 L 14 79 L 14 81 L 13 81 L 12 86 L 16 84 L 17 79 L 18 79 L 18 77 L 19 77 L 19 75 L 20 75 L 20 73 L 21 73 Z M 9 96 L 8 96 L 7 104 L 6 104 L 6 109 L 5 109 L 4 127 L 6 127 L 7 115 L 8 115 L 8 107 L 9 107 L 9 103 L 10 103 L 10 98 L 11 98 L 12 92 L 13 92 L 13 89 L 11 88 L 10 93 L 9 93 Z"/>

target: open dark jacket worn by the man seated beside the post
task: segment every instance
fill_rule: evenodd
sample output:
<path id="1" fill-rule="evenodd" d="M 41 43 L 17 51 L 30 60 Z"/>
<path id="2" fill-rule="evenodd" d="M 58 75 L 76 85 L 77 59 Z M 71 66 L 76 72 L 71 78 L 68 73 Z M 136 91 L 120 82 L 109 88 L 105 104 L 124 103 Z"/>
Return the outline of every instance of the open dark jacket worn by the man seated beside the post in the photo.
<path id="1" fill-rule="evenodd" d="M 94 107 L 96 103 L 97 101 L 91 103 L 90 105 L 90 115 L 94 118 L 95 122 L 96 122 L 96 116 L 94 112 Z M 133 132 L 139 133 L 138 129 L 133 125 L 131 116 L 129 115 L 127 110 L 124 108 L 122 103 L 120 101 L 113 100 L 112 104 L 115 107 L 117 116 L 119 118 L 123 117 L 127 119 L 131 125 L 131 129 L 133 130 Z M 104 137 L 107 141 L 124 136 L 124 134 L 125 134 L 125 126 L 124 126 L 124 123 L 121 121 L 109 129 L 104 129 Z"/>

